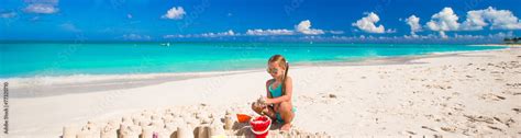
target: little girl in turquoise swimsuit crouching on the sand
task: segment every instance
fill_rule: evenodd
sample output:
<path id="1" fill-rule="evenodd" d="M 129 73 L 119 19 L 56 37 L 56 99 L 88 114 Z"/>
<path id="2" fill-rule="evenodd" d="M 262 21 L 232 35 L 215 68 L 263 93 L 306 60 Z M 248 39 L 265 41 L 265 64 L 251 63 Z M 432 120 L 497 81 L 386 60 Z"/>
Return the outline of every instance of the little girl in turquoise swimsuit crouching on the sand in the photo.
<path id="1" fill-rule="evenodd" d="M 295 108 L 291 103 L 292 81 L 288 76 L 289 65 L 281 55 L 274 55 L 268 60 L 268 73 L 273 77 L 266 81 L 266 95 L 260 102 L 253 103 L 252 110 L 260 115 L 281 123 L 281 130 L 291 128 Z"/>

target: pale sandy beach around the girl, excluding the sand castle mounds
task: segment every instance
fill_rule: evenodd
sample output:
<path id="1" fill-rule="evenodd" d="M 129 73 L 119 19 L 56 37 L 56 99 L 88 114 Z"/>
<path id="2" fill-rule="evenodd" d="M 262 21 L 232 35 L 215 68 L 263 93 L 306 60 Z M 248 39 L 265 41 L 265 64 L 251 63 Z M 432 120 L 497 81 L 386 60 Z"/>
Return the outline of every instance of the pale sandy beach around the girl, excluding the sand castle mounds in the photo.
<path id="1" fill-rule="evenodd" d="M 293 129 L 332 137 L 521 136 L 519 47 L 363 62 L 291 68 Z M 182 77 L 7 80 L 11 95 L 23 93 L 9 100 L 8 137 L 59 137 L 64 126 L 148 112 L 204 112 L 215 120 L 226 111 L 252 114 L 248 105 L 270 78 L 265 69 Z M 54 94 L 31 95 L 38 90 Z"/>

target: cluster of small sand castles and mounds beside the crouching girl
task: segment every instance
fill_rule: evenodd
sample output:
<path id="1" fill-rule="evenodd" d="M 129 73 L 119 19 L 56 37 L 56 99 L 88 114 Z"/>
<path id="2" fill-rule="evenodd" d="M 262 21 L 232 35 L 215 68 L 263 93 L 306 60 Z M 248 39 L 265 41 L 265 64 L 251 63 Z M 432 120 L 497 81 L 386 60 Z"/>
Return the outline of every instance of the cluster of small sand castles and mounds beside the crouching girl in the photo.
<path id="1" fill-rule="evenodd" d="M 207 105 L 166 110 L 145 110 L 133 115 L 101 122 L 89 120 L 81 127 L 65 126 L 63 138 L 224 138 L 255 137 L 247 123 L 239 123 L 235 114 L 244 108 L 224 112 Z M 217 114 L 221 113 L 221 114 Z M 328 138 L 324 133 L 269 130 L 268 137 Z"/>

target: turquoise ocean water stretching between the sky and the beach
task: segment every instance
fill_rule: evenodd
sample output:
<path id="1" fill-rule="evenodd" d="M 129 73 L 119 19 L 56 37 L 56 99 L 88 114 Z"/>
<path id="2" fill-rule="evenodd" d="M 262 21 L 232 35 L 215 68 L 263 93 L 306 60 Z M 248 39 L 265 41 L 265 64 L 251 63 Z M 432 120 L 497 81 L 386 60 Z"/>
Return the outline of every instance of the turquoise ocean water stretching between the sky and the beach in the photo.
<path id="1" fill-rule="evenodd" d="M 309 43 L 0 43 L 0 78 L 197 72 L 265 68 L 274 54 L 291 64 L 505 47 Z"/>

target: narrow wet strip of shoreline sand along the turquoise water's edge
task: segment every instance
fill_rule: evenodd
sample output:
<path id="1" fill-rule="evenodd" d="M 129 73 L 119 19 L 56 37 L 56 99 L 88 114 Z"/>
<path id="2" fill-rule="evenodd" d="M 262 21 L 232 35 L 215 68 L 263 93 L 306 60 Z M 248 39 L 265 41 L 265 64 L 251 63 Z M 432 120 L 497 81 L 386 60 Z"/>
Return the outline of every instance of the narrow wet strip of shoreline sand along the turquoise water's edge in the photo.
<path id="1" fill-rule="evenodd" d="M 462 54 L 508 50 L 487 49 L 467 51 L 443 51 L 426 55 L 410 55 L 396 57 L 366 57 L 354 60 L 334 60 L 317 62 L 299 62 L 291 65 L 292 69 L 309 67 L 342 67 L 342 66 L 385 66 L 385 65 L 408 65 L 411 60 L 422 58 L 461 56 Z M 264 68 L 196 71 L 196 72 L 157 72 L 157 73 L 123 73 L 123 74 L 73 74 L 73 76 L 43 76 L 29 78 L 3 78 L 2 82 L 9 82 L 11 91 L 18 91 L 10 96 L 13 99 L 55 96 L 63 94 L 76 94 L 86 92 L 102 92 L 110 90 L 124 90 L 130 88 L 141 88 L 160 84 L 173 81 L 181 81 L 199 78 L 211 78 L 232 76 L 240 73 L 264 72 Z M 131 85 L 129 85 L 131 84 Z M 34 89 L 38 88 L 38 89 Z"/>

